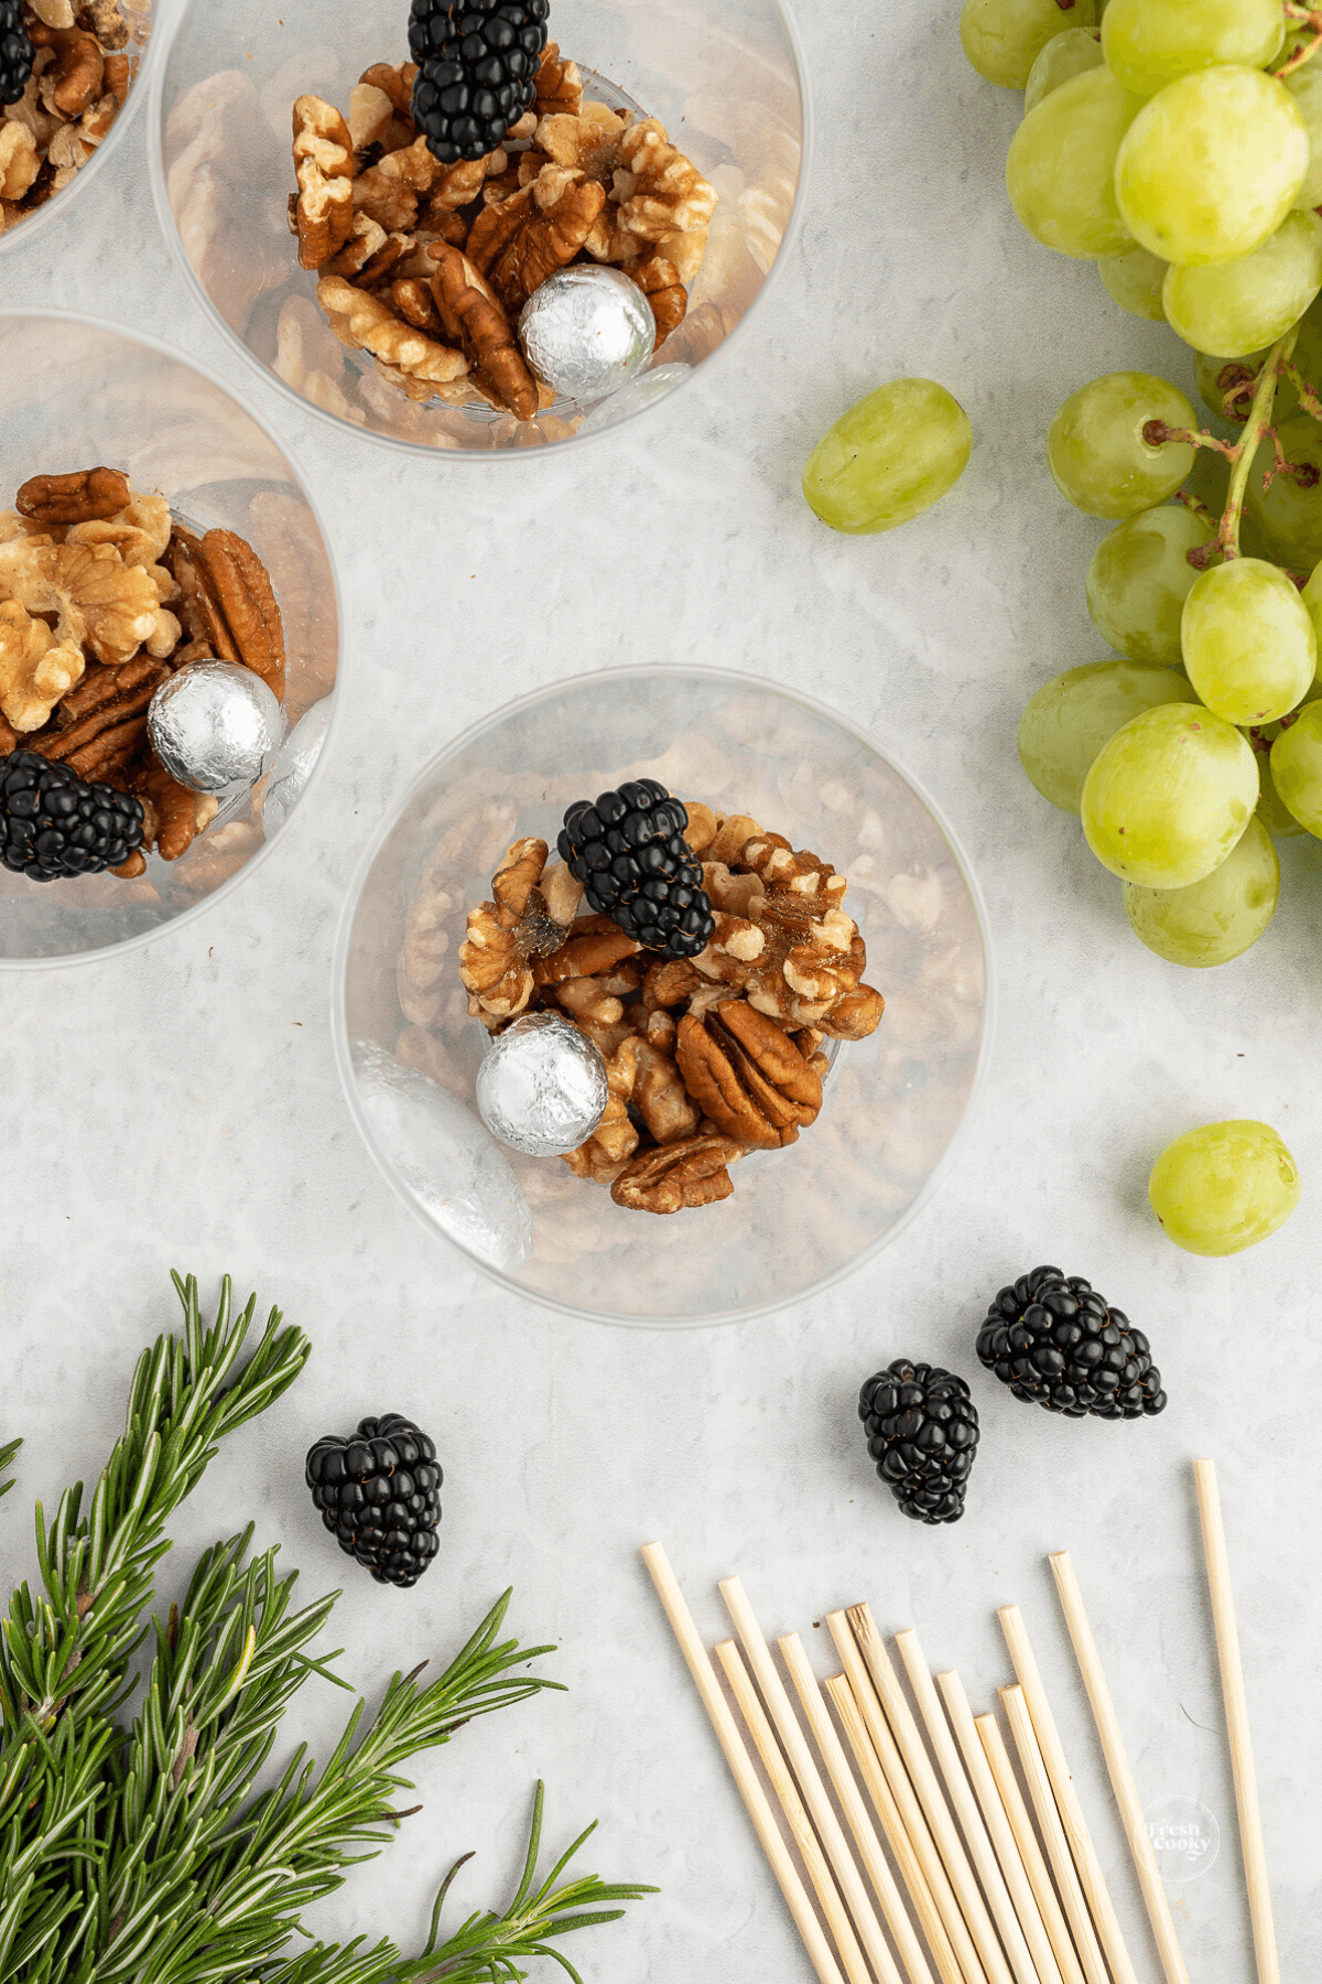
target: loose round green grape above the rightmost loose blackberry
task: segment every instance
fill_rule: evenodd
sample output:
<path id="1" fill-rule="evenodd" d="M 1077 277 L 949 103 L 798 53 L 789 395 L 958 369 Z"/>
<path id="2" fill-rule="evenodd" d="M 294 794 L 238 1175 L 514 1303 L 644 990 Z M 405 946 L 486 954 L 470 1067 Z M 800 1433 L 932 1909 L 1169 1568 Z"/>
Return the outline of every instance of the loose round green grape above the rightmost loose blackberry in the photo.
<path id="1" fill-rule="evenodd" d="M 1270 1123 L 1205 1123 L 1152 1167 L 1148 1200 L 1185 1254 L 1243 1254 L 1298 1204 L 1298 1165 Z"/>

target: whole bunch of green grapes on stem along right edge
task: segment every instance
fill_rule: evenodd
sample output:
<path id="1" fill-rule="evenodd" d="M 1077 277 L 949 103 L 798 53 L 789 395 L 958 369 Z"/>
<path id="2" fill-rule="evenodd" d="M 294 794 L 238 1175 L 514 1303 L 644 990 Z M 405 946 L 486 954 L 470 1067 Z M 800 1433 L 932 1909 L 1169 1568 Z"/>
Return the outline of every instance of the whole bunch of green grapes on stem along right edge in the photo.
<path id="1" fill-rule="evenodd" d="M 1274 837 L 1322 837 L 1322 34 L 1282 0 L 965 0 L 1025 89 L 1015 214 L 1195 351 L 1072 393 L 1056 488 L 1114 524 L 1088 613 L 1122 657 L 1029 702 L 1019 754 L 1124 883 L 1138 936 L 1225 964 L 1268 927 Z"/>

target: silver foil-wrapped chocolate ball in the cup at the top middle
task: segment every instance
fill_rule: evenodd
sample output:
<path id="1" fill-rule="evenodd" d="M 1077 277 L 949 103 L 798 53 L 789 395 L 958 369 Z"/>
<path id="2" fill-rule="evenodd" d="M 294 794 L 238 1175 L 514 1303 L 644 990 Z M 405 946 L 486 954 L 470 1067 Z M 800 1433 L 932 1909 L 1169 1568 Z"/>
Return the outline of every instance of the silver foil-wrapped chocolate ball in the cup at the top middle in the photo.
<path id="1" fill-rule="evenodd" d="M 559 268 L 519 317 L 523 357 L 567 399 L 603 399 L 642 371 L 656 345 L 652 306 L 618 268 Z"/>

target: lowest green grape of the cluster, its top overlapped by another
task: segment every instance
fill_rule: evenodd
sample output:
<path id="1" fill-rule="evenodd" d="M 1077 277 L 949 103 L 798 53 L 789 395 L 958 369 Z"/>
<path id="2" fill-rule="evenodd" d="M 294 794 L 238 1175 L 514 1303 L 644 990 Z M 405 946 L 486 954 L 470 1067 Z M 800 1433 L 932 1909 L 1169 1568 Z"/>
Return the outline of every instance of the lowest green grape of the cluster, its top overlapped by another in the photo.
<path id="1" fill-rule="evenodd" d="M 1221 867 L 1187 889 L 1140 889 L 1126 881 L 1122 893 L 1134 934 L 1167 964 L 1195 970 L 1229 964 L 1272 921 L 1280 861 L 1267 827 L 1251 819 Z"/>

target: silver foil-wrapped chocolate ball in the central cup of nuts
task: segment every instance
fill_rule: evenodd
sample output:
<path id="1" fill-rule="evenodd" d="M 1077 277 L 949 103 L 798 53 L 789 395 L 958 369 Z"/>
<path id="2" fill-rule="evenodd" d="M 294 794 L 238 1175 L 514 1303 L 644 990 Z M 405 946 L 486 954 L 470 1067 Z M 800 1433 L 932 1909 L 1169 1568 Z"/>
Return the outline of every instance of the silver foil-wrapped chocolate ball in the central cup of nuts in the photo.
<path id="1" fill-rule="evenodd" d="M 606 1063 L 555 1012 L 525 1012 L 497 1034 L 478 1069 L 478 1113 L 511 1151 L 563 1157 L 593 1135 L 606 1107 Z"/>

